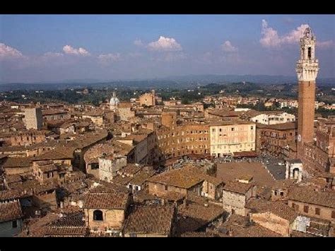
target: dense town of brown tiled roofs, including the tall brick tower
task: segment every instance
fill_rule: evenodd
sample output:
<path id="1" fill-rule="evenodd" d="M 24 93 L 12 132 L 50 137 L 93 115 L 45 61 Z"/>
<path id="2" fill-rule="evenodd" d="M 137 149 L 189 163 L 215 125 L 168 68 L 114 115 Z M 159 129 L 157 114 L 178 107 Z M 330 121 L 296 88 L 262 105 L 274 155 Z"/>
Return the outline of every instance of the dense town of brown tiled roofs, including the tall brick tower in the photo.
<path id="1" fill-rule="evenodd" d="M 298 100 L 155 90 L 0 106 L 1 237 L 335 237 L 335 117 L 315 114 L 315 37 Z M 206 104 L 209 104 L 208 106 Z M 206 108 L 205 108 L 206 106 Z"/>

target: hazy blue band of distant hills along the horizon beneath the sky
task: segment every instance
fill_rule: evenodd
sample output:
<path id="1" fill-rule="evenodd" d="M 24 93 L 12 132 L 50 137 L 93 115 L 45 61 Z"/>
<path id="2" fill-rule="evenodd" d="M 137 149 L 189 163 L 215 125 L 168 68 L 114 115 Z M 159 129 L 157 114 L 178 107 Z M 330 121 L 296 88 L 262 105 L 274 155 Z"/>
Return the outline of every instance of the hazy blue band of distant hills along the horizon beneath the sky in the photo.
<path id="1" fill-rule="evenodd" d="M 64 90 L 66 88 L 194 88 L 208 83 L 261 83 L 280 84 L 297 83 L 296 76 L 269 75 L 187 75 L 169 76 L 165 78 L 151 78 L 144 80 L 112 80 L 99 81 L 97 79 L 73 79 L 64 81 L 47 81 L 38 83 L 0 83 L 0 91 L 15 90 Z M 317 78 L 317 84 L 335 86 L 335 78 Z"/>

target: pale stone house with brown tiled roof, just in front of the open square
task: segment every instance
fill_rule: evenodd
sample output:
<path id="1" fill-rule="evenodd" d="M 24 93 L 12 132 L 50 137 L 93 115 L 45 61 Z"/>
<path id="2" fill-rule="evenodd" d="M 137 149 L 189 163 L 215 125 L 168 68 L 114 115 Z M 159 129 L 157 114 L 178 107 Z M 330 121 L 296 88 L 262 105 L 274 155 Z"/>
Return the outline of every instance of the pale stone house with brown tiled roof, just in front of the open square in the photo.
<path id="1" fill-rule="evenodd" d="M 252 197 L 256 197 L 257 187 L 252 183 L 228 181 L 223 187 L 223 209 L 230 214 L 245 216 L 245 204 Z"/>

